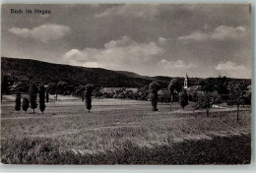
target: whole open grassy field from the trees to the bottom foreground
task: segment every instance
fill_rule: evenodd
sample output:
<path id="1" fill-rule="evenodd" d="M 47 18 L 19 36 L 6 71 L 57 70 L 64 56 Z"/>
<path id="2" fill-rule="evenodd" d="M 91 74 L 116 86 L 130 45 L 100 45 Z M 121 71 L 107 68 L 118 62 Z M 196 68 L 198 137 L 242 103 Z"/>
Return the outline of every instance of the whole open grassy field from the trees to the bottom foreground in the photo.
<path id="1" fill-rule="evenodd" d="M 246 164 L 250 163 L 251 110 L 193 112 L 174 103 L 151 111 L 148 101 L 62 99 L 44 114 L 14 110 L 4 97 L 1 112 L 3 163 L 12 164 Z"/>

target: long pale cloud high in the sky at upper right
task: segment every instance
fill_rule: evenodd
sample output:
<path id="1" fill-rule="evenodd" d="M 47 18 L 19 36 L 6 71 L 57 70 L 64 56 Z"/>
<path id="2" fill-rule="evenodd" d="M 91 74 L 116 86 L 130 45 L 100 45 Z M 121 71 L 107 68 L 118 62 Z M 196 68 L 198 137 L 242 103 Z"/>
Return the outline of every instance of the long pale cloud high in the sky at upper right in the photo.
<path id="1" fill-rule="evenodd" d="M 226 27 L 220 26 L 212 31 L 193 31 L 191 34 L 179 36 L 177 39 L 184 42 L 205 41 L 205 40 L 224 40 L 238 39 L 244 35 L 246 29 L 243 27 Z"/>

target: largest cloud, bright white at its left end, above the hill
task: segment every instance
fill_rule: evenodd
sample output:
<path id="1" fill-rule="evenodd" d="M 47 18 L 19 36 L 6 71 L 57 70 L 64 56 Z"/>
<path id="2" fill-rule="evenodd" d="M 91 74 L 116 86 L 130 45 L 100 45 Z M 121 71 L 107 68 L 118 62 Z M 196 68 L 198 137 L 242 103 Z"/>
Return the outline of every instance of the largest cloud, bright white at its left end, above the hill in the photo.
<path id="1" fill-rule="evenodd" d="M 163 49 L 153 41 L 139 43 L 128 36 L 122 36 L 105 43 L 103 48 L 72 49 L 63 58 L 72 65 L 135 70 L 143 63 L 153 61 L 162 52 Z"/>

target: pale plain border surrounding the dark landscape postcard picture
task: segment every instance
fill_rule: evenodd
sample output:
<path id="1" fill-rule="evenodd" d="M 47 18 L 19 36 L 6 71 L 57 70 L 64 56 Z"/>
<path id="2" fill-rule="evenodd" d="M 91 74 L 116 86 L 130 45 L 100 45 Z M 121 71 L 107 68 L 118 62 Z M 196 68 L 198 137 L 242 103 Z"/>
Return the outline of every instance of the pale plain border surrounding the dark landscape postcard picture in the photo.
<path id="1" fill-rule="evenodd" d="M 105 4 L 105 3 L 251 3 L 252 4 L 252 105 L 255 105 L 255 0 L 2 0 L 2 4 Z M 1 9 L 0 9 L 1 14 Z M 1 42 L 0 42 L 1 44 Z M 1 51 L 0 51 L 1 54 Z M 92 172 L 92 173 L 254 173 L 255 152 L 255 106 L 252 107 L 252 162 L 250 165 L 0 165 L 0 172 Z"/>

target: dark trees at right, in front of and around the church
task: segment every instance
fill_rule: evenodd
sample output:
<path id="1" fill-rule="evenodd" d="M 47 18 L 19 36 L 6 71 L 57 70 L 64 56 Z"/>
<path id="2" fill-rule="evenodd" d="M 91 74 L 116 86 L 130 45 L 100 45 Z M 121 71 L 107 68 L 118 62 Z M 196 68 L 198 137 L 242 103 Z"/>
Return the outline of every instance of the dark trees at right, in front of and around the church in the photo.
<path id="1" fill-rule="evenodd" d="M 196 111 L 200 108 L 204 108 L 207 111 L 207 117 L 209 117 L 209 109 L 214 105 L 219 105 L 223 102 L 221 93 L 227 93 L 228 100 L 227 104 L 236 105 L 236 120 L 239 120 L 239 106 L 244 103 L 243 93 L 242 91 L 247 89 L 247 85 L 244 82 L 241 83 L 233 83 L 226 82 L 226 77 L 219 77 L 217 81 L 213 79 L 206 80 L 205 84 L 203 84 L 204 92 L 202 94 L 194 93 L 192 96 L 192 100 L 196 102 L 196 107 L 193 111 Z M 153 82 L 149 86 L 151 93 L 151 101 L 152 101 L 152 110 L 158 111 L 158 90 L 160 89 L 160 85 L 156 82 Z M 184 110 L 185 106 L 189 104 L 189 94 L 185 88 L 180 88 L 177 80 L 172 79 L 167 87 L 170 93 L 170 110 L 171 104 L 173 101 L 173 97 L 177 94 L 179 96 L 179 104 Z"/>

